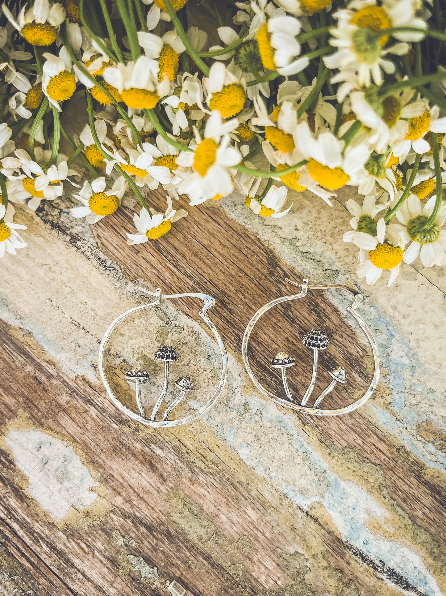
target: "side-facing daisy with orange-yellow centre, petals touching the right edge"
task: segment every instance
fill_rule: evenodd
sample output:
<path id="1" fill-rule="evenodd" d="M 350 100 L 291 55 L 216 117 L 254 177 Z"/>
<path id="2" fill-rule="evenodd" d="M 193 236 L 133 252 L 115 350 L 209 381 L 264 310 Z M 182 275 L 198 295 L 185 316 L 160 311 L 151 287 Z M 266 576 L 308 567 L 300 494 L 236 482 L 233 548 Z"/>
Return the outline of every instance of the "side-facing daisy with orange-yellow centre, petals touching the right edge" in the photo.
<path id="1" fill-rule="evenodd" d="M 428 100 L 422 99 L 420 101 L 425 105 L 425 110 L 421 116 L 412 117 L 407 121 L 409 129 L 406 136 L 392 147 L 392 153 L 400 158 L 400 163 L 406 160 L 411 148 L 415 153 L 420 154 L 428 153 L 432 149 L 429 142 L 423 138 L 426 133 L 446 133 L 446 117 L 438 117 L 440 111 L 438 105 L 432 106 L 429 110 Z"/>

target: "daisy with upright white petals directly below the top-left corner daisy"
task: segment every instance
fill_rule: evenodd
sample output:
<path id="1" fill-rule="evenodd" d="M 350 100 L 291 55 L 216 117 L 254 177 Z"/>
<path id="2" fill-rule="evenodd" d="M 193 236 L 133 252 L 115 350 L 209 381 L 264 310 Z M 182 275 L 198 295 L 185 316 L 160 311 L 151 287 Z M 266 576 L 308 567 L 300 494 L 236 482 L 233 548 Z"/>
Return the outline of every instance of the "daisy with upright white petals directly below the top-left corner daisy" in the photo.
<path id="1" fill-rule="evenodd" d="M 45 52 L 43 57 L 46 62 L 43 64 L 42 91 L 49 102 L 62 111 L 59 101 L 69 100 L 76 91 L 76 77 L 71 72 L 73 63 L 65 46 L 62 46 L 58 57 L 49 52 Z"/>

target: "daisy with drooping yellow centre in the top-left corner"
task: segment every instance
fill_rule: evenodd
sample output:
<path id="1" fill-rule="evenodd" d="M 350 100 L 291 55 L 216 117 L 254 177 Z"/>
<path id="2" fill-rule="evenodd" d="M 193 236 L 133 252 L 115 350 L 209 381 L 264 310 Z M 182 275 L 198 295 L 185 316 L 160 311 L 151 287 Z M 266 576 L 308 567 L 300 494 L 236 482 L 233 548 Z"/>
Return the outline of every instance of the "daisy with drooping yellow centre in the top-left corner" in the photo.
<path id="1" fill-rule="evenodd" d="M 4 4 L 2 10 L 8 21 L 31 45 L 46 46 L 53 44 L 65 20 L 65 8 L 62 4 L 49 4 L 48 0 L 36 0 L 31 8 L 26 5 L 20 11 L 17 21 Z"/>

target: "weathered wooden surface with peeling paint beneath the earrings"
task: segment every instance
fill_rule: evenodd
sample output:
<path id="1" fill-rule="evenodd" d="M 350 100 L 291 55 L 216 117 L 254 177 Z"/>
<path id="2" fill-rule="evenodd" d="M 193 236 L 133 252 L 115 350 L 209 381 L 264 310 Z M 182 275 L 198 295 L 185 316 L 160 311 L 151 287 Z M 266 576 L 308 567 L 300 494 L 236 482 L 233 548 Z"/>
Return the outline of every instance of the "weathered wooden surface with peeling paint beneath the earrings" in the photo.
<path id="1" fill-rule="evenodd" d="M 158 191 L 149 200 L 160 210 L 165 204 Z M 313 202 L 303 199 L 303 221 Z M 21 212 L 28 254 L 4 259 L 0 282 L 4 594 L 166 594 L 174 579 L 194 596 L 446 593 L 446 417 L 442 373 L 429 356 L 432 349 L 443 358 L 444 348 L 423 344 L 417 327 L 422 309 L 426 334 L 438 327 L 441 280 L 413 269 L 394 294 L 384 283 L 362 287 L 383 364 L 368 405 L 342 418 L 287 412 L 257 394 L 243 372 L 247 322 L 260 305 L 298 291 L 285 277 L 356 280 L 340 265 L 343 246 L 324 265 L 316 224 L 299 229 L 304 256 L 293 260 L 281 249 L 291 246 L 290 229 L 239 216 L 238 203 L 241 213 L 237 197 L 190 209 L 165 237 L 138 247 L 123 239 L 133 230 L 131 198 L 94 236 L 70 218 L 66 198 L 36 216 Z M 331 221 L 345 226 L 342 201 L 334 213 Z M 190 426 L 132 423 L 98 382 L 99 341 L 114 316 L 141 303 L 139 283 L 217 300 L 209 314 L 230 353 L 228 388 Z M 418 302 L 404 302 L 421 285 Z M 330 406 L 363 390 L 371 356 L 340 314 L 346 304 L 309 292 L 271 313 L 252 338 L 260 377 L 266 382 L 265 365 L 285 349 L 297 357 L 290 385 L 301 392 L 312 364 L 301 337 L 321 327 L 331 347 L 321 354 L 316 391 L 333 364 L 346 366 L 349 384 Z M 177 306 L 183 314 L 175 321 L 159 313 L 169 342 L 186 337 L 182 325 L 197 319 L 196 301 Z M 194 329 L 206 342 L 204 328 Z M 407 353 L 395 347 L 398 337 L 414 342 Z M 116 383 L 123 366 L 109 364 Z"/>

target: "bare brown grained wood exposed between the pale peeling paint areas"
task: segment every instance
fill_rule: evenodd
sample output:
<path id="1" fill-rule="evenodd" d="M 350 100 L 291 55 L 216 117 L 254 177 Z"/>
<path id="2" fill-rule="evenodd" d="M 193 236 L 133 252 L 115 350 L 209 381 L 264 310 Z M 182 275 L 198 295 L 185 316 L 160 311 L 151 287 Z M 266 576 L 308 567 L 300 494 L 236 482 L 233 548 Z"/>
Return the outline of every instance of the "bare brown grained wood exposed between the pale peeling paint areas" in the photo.
<path id="1" fill-rule="evenodd" d="M 165 199 L 152 193 L 150 201 L 161 210 Z M 209 313 L 238 359 L 253 313 L 274 297 L 294 293 L 285 277 L 302 278 L 218 206 L 194 208 L 174 231 L 138 247 L 123 240 L 124 231 L 133 231 L 131 216 L 123 207 L 96 226 L 103 252 L 120 263 L 128 280 L 160 285 L 166 293 L 214 296 Z M 195 316 L 192 300 L 182 307 Z M 301 392 L 311 357 L 300 339 L 312 327 L 336 330 L 331 350 L 321 356 L 316 391 L 329 381 L 322 369 L 344 364 L 350 385 L 329 403 L 345 403 L 365 386 L 370 355 L 323 294 L 310 293 L 298 306 L 277 309 L 274 321 L 266 319 L 253 335 L 256 370 L 264 374 L 274 353 L 285 349 L 297 356 L 290 384 Z M 109 403 L 102 386 L 68 377 L 4 323 L 0 343 L 0 370 L 7 371 L 0 381 L 3 432 L 19 420 L 23 428 L 73 445 L 98 480 L 94 490 L 103 502 L 103 513 L 80 512 L 76 523 L 56 525 L 26 492 L 3 445 L 0 544 L 10 557 L 4 565 L 15 567 L 36 594 L 165 594 L 172 579 L 195 596 L 375 596 L 401 589 L 428 594 L 343 541 L 317 504 L 296 507 L 202 422 L 160 432 L 133 424 Z M 383 395 L 381 386 L 375 399 Z M 373 425 L 364 409 L 343 418 L 292 416 L 301 434 L 318 437 L 332 457 L 354 462 L 352 470 L 357 465 L 373 471 L 395 517 L 408 528 L 413 524 L 432 561 L 444 564 L 442 474 Z M 1 553 L 0 560 L 6 560 Z"/>

